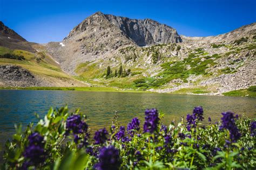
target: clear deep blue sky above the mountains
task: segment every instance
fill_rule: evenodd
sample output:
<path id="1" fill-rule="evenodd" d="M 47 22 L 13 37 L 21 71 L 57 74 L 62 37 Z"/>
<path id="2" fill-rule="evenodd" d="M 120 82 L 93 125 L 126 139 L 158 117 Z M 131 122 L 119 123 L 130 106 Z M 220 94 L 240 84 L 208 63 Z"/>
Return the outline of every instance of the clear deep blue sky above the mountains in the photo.
<path id="1" fill-rule="evenodd" d="M 55 1 L 0 0 L 0 20 L 28 41 L 61 41 L 97 11 L 151 18 L 185 36 L 213 36 L 256 22 L 255 0 Z"/>

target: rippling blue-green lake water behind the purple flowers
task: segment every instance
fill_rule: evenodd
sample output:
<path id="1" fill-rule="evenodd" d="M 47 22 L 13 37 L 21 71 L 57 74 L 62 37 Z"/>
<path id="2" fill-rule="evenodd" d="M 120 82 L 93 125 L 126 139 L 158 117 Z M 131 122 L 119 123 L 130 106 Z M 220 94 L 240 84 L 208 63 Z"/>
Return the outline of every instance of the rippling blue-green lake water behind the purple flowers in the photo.
<path id="1" fill-rule="evenodd" d="M 39 90 L 0 90 L 0 141 L 14 133 L 14 124 L 37 122 L 35 112 L 41 118 L 48 109 L 69 105 L 70 111 L 80 108 L 92 131 L 107 128 L 111 124 L 114 112 L 118 112 L 120 124 L 126 125 L 133 117 L 139 117 L 143 123 L 144 110 L 157 108 L 165 113 L 163 122 L 167 125 L 174 119 L 191 113 L 198 105 L 204 108 L 204 122 L 210 116 L 219 121 L 221 112 L 234 111 L 255 117 L 256 98 L 172 95 L 154 93 L 115 93 L 93 91 L 39 91 Z"/>

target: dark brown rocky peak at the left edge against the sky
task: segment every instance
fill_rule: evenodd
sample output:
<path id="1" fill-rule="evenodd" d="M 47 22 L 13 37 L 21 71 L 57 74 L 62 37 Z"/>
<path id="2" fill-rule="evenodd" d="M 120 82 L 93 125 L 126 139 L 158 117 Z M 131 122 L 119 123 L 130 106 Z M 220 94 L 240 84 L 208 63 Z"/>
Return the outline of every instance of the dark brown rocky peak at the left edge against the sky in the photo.
<path id="1" fill-rule="evenodd" d="M 23 37 L 19 36 L 14 30 L 9 29 L 8 26 L 5 26 L 2 21 L 0 21 L 0 36 L 9 38 L 9 39 L 17 39 L 20 41 L 26 41 Z"/>

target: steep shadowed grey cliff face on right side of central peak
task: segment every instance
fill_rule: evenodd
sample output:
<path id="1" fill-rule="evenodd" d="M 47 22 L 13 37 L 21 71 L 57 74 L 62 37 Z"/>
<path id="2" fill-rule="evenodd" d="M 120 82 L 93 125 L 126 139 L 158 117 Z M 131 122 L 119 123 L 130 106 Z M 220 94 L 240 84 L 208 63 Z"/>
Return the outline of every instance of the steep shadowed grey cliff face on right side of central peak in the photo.
<path id="1" fill-rule="evenodd" d="M 104 16 L 109 22 L 118 26 L 138 46 L 182 41 L 175 29 L 152 19 L 130 19 L 113 15 Z"/>

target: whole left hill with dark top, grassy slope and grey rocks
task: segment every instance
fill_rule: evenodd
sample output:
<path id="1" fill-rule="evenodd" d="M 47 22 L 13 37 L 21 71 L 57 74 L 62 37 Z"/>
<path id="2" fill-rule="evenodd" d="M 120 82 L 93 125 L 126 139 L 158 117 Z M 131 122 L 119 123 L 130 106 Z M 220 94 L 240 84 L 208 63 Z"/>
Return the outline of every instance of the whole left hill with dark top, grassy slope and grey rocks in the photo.
<path id="1" fill-rule="evenodd" d="M 0 22 L 0 87 L 86 86 L 60 69 L 45 47 Z"/>

